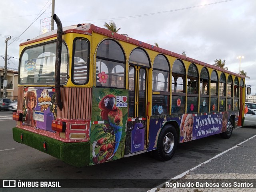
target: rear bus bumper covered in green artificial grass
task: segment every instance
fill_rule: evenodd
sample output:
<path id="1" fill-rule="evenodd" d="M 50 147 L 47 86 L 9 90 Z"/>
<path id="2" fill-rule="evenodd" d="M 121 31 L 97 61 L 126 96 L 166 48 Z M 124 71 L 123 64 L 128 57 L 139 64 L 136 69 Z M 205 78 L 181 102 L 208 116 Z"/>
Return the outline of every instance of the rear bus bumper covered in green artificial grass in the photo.
<path id="1" fill-rule="evenodd" d="M 89 165 L 90 161 L 90 141 L 79 143 L 64 143 L 50 137 L 40 135 L 14 127 L 12 129 L 13 139 L 56 157 L 65 163 L 76 167 Z"/>

